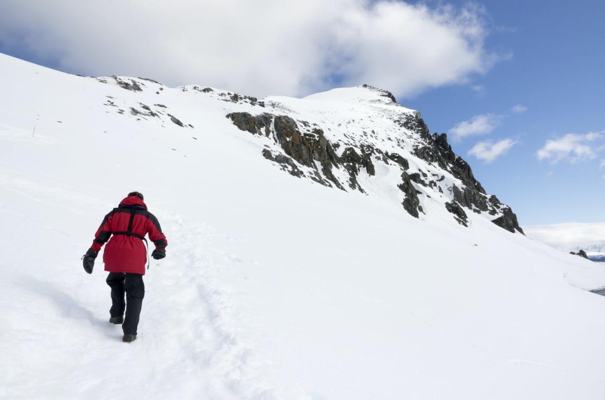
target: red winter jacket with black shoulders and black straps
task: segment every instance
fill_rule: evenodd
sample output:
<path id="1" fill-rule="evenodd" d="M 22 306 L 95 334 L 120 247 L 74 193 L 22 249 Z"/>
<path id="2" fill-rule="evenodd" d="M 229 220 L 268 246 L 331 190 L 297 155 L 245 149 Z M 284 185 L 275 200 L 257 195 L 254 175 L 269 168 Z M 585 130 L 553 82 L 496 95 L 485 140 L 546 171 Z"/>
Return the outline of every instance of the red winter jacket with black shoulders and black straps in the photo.
<path id="1" fill-rule="evenodd" d="M 113 234 L 113 237 L 110 236 Z M 99 251 L 106 241 L 103 263 L 109 272 L 130 272 L 145 275 L 147 249 L 143 244 L 145 234 L 156 249 L 168 246 L 160 223 L 138 196 L 126 197 L 119 207 L 105 215 L 101 226 L 94 234 L 91 249 Z"/>

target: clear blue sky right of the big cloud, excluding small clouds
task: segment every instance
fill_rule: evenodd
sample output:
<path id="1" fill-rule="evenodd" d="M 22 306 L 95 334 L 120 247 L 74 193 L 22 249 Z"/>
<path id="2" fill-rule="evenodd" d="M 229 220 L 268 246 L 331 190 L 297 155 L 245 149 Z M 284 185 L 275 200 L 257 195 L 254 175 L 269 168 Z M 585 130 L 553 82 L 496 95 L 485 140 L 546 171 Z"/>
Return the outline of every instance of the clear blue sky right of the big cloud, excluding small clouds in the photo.
<path id="1" fill-rule="evenodd" d="M 481 4 L 493 24 L 486 47 L 511 53 L 510 59 L 474 77 L 470 85 L 427 91 L 405 102 L 422 111 L 431 131 L 438 132 L 477 114 L 503 115 L 488 136 L 451 142 L 522 224 L 605 221 L 605 168 L 600 168 L 605 154 L 595 151 L 594 159 L 575 163 L 536 157 L 548 139 L 605 130 L 605 3 Z M 473 91 L 471 85 L 483 90 Z M 515 104 L 528 110 L 511 113 Z M 519 143 L 492 163 L 467 154 L 479 140 L 503 137 Z"/>

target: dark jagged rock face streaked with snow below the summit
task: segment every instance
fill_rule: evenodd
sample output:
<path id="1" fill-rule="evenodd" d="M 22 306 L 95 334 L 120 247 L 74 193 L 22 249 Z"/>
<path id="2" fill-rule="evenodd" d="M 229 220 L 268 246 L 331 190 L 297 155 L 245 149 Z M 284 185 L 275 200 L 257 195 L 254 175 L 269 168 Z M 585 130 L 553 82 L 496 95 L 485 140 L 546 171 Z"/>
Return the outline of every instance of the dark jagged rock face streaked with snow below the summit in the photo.
<path id="1" fill-rule="evenodd" d="M 306 177 L 344 191 L 351 189 L 367 193 L 364 185 L 368 181 L 365 179 L 374 179 L 378 171 L 384 175 L 385 168 L 395 168 L 401 176 L 401 181 L 396 183 L 402 192 L 401 204 L 413 217 L 420 218 L 424 214 L 423 202 L 429 201 L 427 199 L 443 198 L 446 211 L 453 214 L 453 218 L 462 226 L 469 226 L 472 222 L 464 210 L 468 208 L 476 214 L 485 213 L 503 229 L 523 233 L 516 215 L 495 195 L 486 194 L 474 177 L 471 166 L 454 153 L 446 134 L 430 134 L 420 113 L 399 111 L 397 107 L 401 106 L 388 91 L 368 85 L 364 85 L 364 88 L 378 94 L 376 100 L 370 100 L 370 103 L 376 102 L 379 105 L 377 112 L 384 113 L 391 120 L 393 128 L 388 128 L 390 134 L 381 133 L 379 126 L 374 128 L 367 125 L 365 121 L 374 118 L 371 114 L 346 122 L 347 125 L 364 126 L 360 129 L 361 133 L 352 136 L 348 133 L 347 125 L 330 124 L 329 119 L 318 123 L 296 119 L 296 112 L 271 101 L 267 105 L 263 103 L 263 107 L 267 107 L 267 111 L 273 109 L 281 113 L 237 112 L 227 114 L 227 118 L 240 130 L 270 138 L 279 145 L 283 154 L 278 154 L 275 149 L 263 149 L 263 156 L 293 176 Z M 218 96 L 240 104 L 242 99 L 248 98 L 232 93 L 219 93 Z M 380 100 L 381 97 L 388 100 Z M 248 102 L 256 104 L 257 99 Z M 384 111 L 385 107 L 392 109 Z M 284 110 L 287 114 L 283 113 Z M 323 112 L 320 111 L 320 114 Z M 335 130 L 341 133 L 340 139 L 329 140 L 326 133 L 333 138 Z M 382 165 L 380 169 L 377 163 Z M 359 179 L 361 174 L 366 177 L 364 180 Z"/>

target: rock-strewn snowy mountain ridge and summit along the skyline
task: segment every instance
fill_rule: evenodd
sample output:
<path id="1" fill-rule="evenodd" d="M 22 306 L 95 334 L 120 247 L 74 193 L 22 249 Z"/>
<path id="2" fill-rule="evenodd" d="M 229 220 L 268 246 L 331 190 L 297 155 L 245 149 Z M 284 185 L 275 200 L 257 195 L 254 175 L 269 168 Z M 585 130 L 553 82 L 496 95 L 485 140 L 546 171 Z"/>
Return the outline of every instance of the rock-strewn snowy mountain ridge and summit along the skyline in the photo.
<path id="1" fill-rule="evenodd" d="M 169 89 L 152 79 L 93 79 L 146 94 L 161 95 Z M 472 218 L 467 209 L 523 233 L 511 208 L 495 195 L 486 195 L 468 163 L 452 151 L 446 134 L 430 134 L 420 113 L 399 105 L 388 91 L 362 85 L 304 99 L 258 100 L 198 85 L 176 90 L 225 102 L 232 111 L 226 117 L 255 135 L 263 143 L 264 158 L 290 175 L 343 191 L 390 197 L 416 218 L 440 207 L 468 226 Z M 181 122 L 171 105 L 120 102 L 111 96 L 105 105 L 137 120 L 194 128 Z"/>

